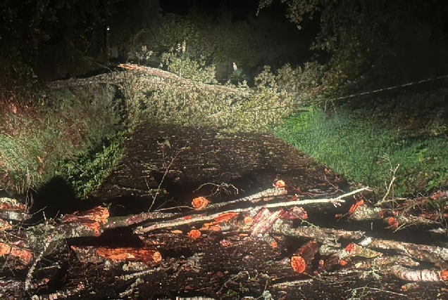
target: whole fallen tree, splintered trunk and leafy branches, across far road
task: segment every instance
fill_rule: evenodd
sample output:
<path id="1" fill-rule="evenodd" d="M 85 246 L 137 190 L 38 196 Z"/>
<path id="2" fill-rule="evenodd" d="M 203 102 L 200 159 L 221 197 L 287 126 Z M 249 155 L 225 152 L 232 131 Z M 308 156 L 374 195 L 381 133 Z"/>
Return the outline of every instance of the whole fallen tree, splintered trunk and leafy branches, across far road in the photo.
<path id="1" fill-rule="evenodd" d="M 263 79 L 249 88 L 246 84 L 211 84 L 201 78 L 186 78 L 154 67 L 120 64 L 107 74 L 52 81 L 46 86 L 49 89 L 117 86 L 122 94 L 118 100 L 118 106 L 123 109 L 120 114 L 126 116 L 126 123 L 131 127 L 156 123 L 268 132 L 304 103 L 298 99 L 299 91 L 272 84 L 271 80 L 277 79 L 269 70 L 265 75 L 271 79 Z"/>

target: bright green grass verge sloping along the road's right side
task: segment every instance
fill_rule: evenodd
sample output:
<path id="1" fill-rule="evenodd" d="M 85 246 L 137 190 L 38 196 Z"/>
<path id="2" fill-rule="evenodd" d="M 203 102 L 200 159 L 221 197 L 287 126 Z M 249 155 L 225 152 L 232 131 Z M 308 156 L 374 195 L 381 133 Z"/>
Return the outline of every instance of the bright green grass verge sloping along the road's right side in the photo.
<path id="1" fill-rule="evenodd" d="M 399 164 L 394 195 L 446 187 L 448 140 L 385 129 L 366 112 L 344 109 L 329 116 L 317 107 L 301 112 L 276 135 L 347 178 L 385 189 Z"/>

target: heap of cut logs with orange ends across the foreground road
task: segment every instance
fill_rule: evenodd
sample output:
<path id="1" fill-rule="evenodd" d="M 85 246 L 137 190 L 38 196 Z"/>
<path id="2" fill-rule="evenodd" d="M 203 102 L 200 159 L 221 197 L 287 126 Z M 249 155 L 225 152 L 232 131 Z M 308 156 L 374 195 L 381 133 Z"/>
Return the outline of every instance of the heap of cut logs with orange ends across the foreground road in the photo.
<path id="1" fill-rule="evenodd" d="M 447 248 L 306 221 L 307 207 L 335 209 L 366 190 L 301 200 L 278 181 L 230 202 L 212 204 L 198 197 L 189 211 L 111 217 L 108 209 L 94 207 L 28 226 L 26 207 L 1 198 L 0 298 L 134 299 L 176 293 L 266 298 L 269 291 L 297 289 L 331 274 L 365 276 L 371 270 L 407 281 L 448 280 Z M 399 228 L 398 217 L 392 222 L 390 213 L 359 200 L 346 215 L 351 221 L 362 214 L 368 220 L 383 218 Z"/>

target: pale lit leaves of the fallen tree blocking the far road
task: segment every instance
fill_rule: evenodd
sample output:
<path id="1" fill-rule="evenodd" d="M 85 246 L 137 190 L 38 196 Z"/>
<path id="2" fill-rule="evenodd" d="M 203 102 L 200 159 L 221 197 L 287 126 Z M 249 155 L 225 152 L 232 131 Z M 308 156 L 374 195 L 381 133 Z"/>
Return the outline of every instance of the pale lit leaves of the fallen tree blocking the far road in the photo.
<path id="1" fill-rule="evenodd" d="M 318 87 L 321 67 L 316 64 L 303 69 L 285 65 L 275 73 L 265 67 L 255 78 L 254 89 L 244 81 L 238 86 L 230 82 L 227 86 L 212 86 L 216 83 L 213 65 L 191 60 L 181 52 L 165 53 L 163 57 L 168 70 L 183 78 L 123 73 L 123 110 L 128 126 L 150 122 L 268 131 L 309 101 L 316 93 L 310 90 Z M 311 78 L 315 80 L 308 81 Z"/>

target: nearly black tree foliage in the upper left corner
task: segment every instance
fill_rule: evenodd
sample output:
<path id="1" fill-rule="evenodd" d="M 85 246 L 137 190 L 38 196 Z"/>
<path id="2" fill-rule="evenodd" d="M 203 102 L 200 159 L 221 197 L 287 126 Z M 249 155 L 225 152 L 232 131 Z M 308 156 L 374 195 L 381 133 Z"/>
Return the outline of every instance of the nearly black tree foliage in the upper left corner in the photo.
<path id="1" fill-rule="evenodd" d="M 99 50 L 92 40 L 99 39 L 104 28 L 106 9 L 101 1 L 6 0 L 1 1 L 0 13 L 0 56 L 6 60 L 15 61 L 6 55 L 14 49 L 19 61 L 44 79 L 92 70 L 81 58 L 96 56 L 94 50 Z"/>

